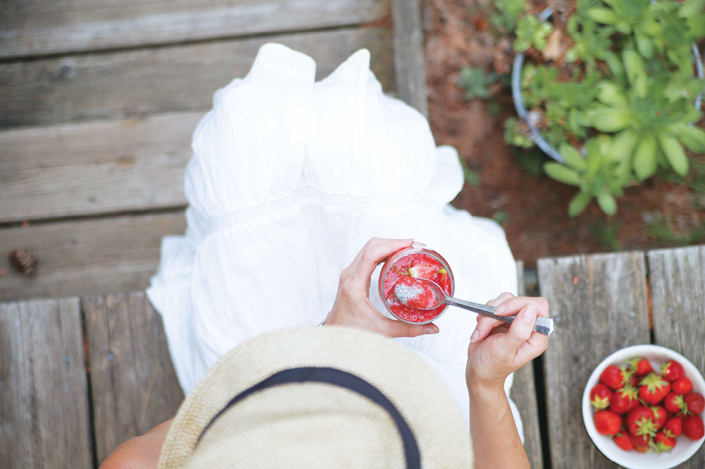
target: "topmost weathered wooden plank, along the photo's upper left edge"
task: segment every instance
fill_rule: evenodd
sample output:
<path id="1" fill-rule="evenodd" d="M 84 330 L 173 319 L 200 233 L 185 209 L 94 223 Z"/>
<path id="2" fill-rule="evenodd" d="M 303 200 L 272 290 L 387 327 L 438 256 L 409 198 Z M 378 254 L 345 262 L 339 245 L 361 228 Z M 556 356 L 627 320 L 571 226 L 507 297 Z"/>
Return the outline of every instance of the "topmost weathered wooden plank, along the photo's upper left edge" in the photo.
<path id="1" fill-rule="evenodd" d="M 8 0 L 0 56 L 165 44 L 368 23 L 388 0 Z"/>

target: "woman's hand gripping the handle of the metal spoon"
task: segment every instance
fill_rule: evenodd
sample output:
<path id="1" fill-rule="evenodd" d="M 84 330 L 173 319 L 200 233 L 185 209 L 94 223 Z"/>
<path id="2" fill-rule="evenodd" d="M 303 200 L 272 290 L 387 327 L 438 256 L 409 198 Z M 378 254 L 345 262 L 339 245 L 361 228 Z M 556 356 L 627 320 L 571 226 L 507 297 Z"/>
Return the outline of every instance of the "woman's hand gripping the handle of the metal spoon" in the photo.
<path id="1" fill-rule="evenodd" d="M 537 316 L 548 317 L 544 298 L 515 297 L 502 293 L 487 303 L 498 316 L 517 315 L 511 326 L 479 316 L 467 348 L 465 379 L 468 389 L 502 389 L 511 372 L 520 369 L 548 346 L 548 337 L 535 332 Z"/>

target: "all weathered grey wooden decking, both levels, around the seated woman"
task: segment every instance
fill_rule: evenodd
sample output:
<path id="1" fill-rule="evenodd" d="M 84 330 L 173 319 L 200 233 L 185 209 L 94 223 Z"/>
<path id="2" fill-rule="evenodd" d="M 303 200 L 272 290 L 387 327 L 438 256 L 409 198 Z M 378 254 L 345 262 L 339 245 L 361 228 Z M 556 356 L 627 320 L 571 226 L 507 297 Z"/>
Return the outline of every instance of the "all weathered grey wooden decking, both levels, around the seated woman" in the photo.
<path id="1" fill-rule="evenodd" d="M 321 4 L 3 4 L 0 468 L 97 468 L 176 412 L 183 394 L 143 290 L 161 238 L 185 229 L 195 123 L 260 45 L 305 51 L 319 77 L 367 47 L 384 90 L 425 114 L 418 1 Z M 32 276 L 10 265 L 16 248 L 37 255 Z M 557 331 L 512 391 L 532 467 L 615 467 L 577 405 L 608 353 L 653 342 L 705 369 L 704 265 L 705 246 L 539 261 Z M 705 467 L 705 450 L 680 467 Z"/>

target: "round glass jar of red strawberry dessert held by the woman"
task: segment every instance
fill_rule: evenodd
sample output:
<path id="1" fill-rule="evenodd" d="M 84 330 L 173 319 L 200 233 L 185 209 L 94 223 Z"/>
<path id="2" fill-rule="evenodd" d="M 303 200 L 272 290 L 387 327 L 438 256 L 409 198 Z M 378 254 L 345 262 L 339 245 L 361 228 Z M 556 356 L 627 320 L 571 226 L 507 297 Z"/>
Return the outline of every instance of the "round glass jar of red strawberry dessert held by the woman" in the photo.
<path id="1" fill-rule="evenodd" d="M 443 256 L 422 243 L 414 243 L 409 248 L 398 250 L 384 262 L 377 285 L 387 311 L 400 321 L 427 324 L 446 311 L 448 305 L 441 305 L 435 310 L 417 310 L 400 303 L 394 295 L 394 285 L 404 275 L 434 281 L 446 295 L 453 296 L 455 279 Z"/>

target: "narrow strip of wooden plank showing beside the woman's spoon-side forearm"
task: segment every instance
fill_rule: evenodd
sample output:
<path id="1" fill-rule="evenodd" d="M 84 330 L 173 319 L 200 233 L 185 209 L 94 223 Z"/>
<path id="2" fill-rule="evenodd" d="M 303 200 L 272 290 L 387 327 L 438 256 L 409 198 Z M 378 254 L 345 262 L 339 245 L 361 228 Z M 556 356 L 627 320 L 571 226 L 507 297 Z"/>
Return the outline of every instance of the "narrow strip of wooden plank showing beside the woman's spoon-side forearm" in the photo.
<path id="1" fill-rule="evenodd" d="M 517 261 L 517 284 L 519 296 L 524 296 L 524 262 Z M 539 407 L 536 384 L 534 382 L 534 364 L 529 363 L 514 373 L 514 382 L 510 396 L 519 409 L 524 424 L 524 449 L 532 468 L 543 468 L 544 458 L 541 454 L 541 430 L 539 430 Z"/>

